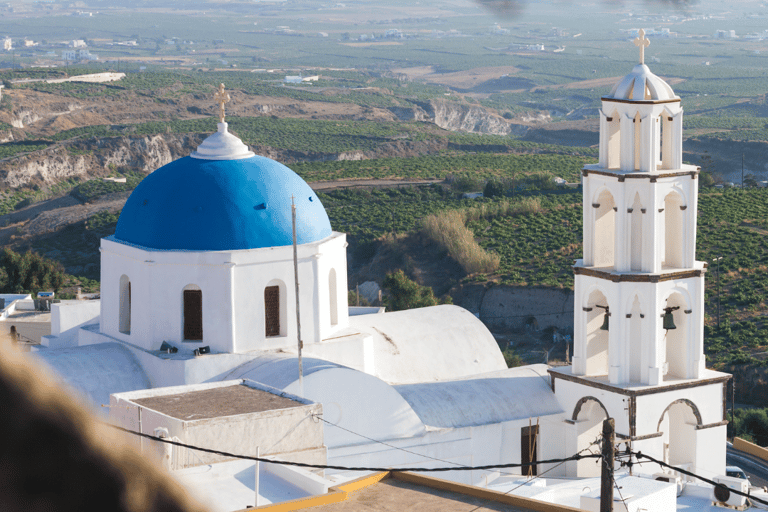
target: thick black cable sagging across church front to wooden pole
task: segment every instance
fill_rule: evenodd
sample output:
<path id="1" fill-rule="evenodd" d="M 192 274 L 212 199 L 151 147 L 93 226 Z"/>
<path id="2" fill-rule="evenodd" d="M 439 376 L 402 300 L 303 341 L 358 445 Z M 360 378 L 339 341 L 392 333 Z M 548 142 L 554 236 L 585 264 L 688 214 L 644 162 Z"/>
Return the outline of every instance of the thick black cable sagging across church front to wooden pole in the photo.
<path id="1" fill-rule="evenodd" d="M 191 444 L 181 443 L 179 441 L 172 441 L 170 439 L 161 438 L 152 436 L 149 434 L 144 434 L 142 432 L 135 432 L 133 430 L 129 430 L 127 428 L 118 427 L 117 425 L 112 425 L 107 423 L 110 427 L 121 430 L 123 432 L 126 432 L 128 434 L 132 434 L 135 436 L 143 437 L 146 439 L 151 439 L 153 441 L 158 441 L 160 443 L 166 443 L 171 444 L 174 446 L 180 446 L 182 448 L 188 448 L 191 450 L 197 450 L 205 453 L 212 453 L 214 455 L 221 455 L 223 457 L 231 457 L 235 459 L 243 459 L 243 460 L 253 460 L 257 462 L 266 462 L 269 464 L 279 464 L 283 466 L 296 466 L 301 468 L 312 468 L 312 469 L 335 469 L 339 471 L 374 471 L 374 472 L 385 472 L 385 471 L 415 471 L 415 472 L 423 472 L 423 473 L 430 473 L 430 472 L 445 472 L 445 471 L 478 471 L 483 469 L 498 469 L 498 468 L 520 468 L 520 467 L 528 467 L 534 464 L 556 464 L 558 462 L 568 462 L 571 460 L 581 460 L 581 459 L 592 459 L 592 458 L 599 458 L 600 456 L 597 455 L 580 455 L 580 454 L 574 454 L 566 459 L 549 459 L 549 460 L 541 460 L 537 462 L 525 462 L 525 463 L 507 463 L 507 464 L 488 464 L 485 466 L 459 466 L 459 467 L 447 467 L 447 468 L 424 468 L 424 467 L 414 467 L 414 468 L 382 468 L 382 467 L 350 467 L 350 466 L 334 466 L 329 464 L 308 464 L 306 462 L 292 462 L 287 460 L 273 460 L 273 459 L 267 459 L 264 457 L 253 457 L 250 455 L 238 455 L 235 453 L 225 452 L 222 450 L 212 450 L 210 448 L 202 448 L 200 446 L 194 446 Z"/>

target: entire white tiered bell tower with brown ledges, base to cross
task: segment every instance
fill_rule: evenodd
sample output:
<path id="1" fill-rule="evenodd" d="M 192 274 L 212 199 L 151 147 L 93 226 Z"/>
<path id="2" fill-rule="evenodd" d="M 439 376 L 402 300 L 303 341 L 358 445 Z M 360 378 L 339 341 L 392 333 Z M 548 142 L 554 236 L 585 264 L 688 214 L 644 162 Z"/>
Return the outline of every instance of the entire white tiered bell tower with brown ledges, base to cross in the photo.
<path id="1" fill-rule="evenodd" d="M 699 169 L 682 162 L 680 98 L 645 65 L 650 42 L 642 30 L 634 43 L 640 62 L 602 98 L 599 162 L 582 171 L 573 365 L 550 375 L 573 410 L 574 452 L 613 417 L 634 449 L 714 476 L 725 464 L 719 446 L 730 376 L 705 367 Z M 710 441 L 719 444 L 707 453 Z"/>

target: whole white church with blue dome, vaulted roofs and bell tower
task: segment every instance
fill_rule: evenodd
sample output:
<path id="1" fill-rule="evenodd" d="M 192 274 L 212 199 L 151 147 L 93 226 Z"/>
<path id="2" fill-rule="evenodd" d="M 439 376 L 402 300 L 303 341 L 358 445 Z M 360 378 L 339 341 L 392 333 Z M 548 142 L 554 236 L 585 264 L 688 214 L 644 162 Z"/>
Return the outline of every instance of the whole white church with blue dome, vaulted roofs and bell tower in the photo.
<path id="1" fill-rule="evenodd" d="M 565 458 L 593 450 L 611 417 L 632 450 L 723 475 L 730 376 L 705 367 L 698 169 L 682 163 L 680 98 L 643 63 L 639 40 L 640 63 L 602 98 L 599 163 L 583 170 L 572 366 L 507 368 L 487 328 L 457 306 L 349 308 L 345 235 L 298 175 L 229 133 L 223 113 L 197 151 L 134 190 L 101 242 L 100 303 L 54 306 L 36 356 L 97 407 L 111 394 L 233 379 L 321 404 L 325 449 L 284 449 L 290 460 Z M 635 476 L 661 471 L 634 466 Z M 510 472 L 520 470 L 445 477 L 488 486 Z M 594 477 L 600 467 L 533 472 Z"/>

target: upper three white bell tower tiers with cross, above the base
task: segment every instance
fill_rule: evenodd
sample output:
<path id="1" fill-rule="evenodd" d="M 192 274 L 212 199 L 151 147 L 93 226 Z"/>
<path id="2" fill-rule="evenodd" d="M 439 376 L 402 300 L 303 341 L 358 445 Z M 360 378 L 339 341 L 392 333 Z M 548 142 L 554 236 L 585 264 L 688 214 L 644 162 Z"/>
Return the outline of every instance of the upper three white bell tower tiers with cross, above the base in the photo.
<path id="1" fill-rule="evenodd" d="M 635 44 L 640 63 L 602 98 L 600 161 L 583 170 L 573 372 L 657 385 L 704 368 L 705 265 L 695 257 L 698 169 L 682 163 L 680 98 L 643 63 L 642 32 Z"/>

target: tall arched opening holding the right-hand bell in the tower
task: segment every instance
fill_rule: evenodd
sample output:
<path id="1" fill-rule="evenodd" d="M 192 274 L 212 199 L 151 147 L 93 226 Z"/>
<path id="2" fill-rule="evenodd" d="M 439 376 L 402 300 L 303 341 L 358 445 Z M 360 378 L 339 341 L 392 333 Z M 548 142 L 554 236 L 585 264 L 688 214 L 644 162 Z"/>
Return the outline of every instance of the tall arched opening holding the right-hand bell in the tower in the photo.
<path id="1" fill-rule="evenodd" d="M 688 330 L 690 315 L 686 314 L 687 301 L 680 293 L 673 293 L 667 298 L 662 326 L 666 345 L 664 380 L 685 379 L 688 377 Z"/>

